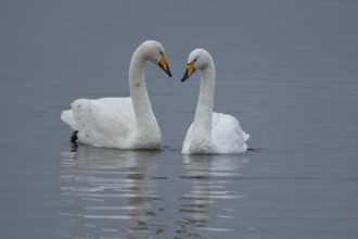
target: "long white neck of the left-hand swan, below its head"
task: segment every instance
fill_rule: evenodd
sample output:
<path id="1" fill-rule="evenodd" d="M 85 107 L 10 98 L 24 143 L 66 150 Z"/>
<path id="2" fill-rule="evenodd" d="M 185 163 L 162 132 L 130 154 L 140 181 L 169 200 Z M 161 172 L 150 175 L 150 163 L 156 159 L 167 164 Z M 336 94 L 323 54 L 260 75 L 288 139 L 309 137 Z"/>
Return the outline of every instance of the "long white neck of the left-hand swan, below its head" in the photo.
<path id="1" fill-rule="evenodd" d="M 156 124 L 145 86 L 145 61 L 146 60 L 139 48 L 135 51 L 129 66 L 129 92 L 138 126 L 142 126 L 144 124 L 148 125 L 150 122 L 154 122 Z"/>

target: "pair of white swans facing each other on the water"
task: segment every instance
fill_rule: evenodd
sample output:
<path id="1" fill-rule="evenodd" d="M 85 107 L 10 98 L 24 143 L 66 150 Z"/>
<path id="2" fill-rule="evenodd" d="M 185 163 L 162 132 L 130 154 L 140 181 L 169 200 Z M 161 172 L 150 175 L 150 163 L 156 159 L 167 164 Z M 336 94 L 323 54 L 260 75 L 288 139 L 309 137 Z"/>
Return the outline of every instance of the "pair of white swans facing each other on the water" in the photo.
<path id="1" fill-rule="evenodd" d="M 144 66 L 157 64 L 171 77 L 164 47 L 154 40 L 144 41 L 135 51 L 129 66 L 128 98 L 78 99 L 72 110 L 63 111 L 62 121 L 75 131 L 73 140 L 93 147 L 123 150 L 161 149 L 162 135 L 148 96 Z M 184 81 L 201 71 L 201 89 L 194 122 L 188 129 L 183 154 L 232 154 L 247 150 L 245 134 L 232 115 L 215 113 L 215 65 L 204 49 L 192 51 L 188 59 Z"/>

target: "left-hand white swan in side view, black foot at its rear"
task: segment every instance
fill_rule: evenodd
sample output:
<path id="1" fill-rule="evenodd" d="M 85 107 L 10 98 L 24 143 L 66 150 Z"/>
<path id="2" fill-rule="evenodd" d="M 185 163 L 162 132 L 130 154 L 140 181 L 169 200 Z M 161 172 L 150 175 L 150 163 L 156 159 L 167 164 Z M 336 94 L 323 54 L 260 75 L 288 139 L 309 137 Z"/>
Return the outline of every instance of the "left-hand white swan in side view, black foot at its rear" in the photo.
<path id="1" fill-rule="evenodd" d="M 148 40 L 132 54 L 127 98 L 78 99 L 61 120 L 75 130 L 72 141 L 123 150 L 161 149 L 162 134 L 148 96 L 144 66 L 157 64 L 171 77 L 164 47 Z"/>

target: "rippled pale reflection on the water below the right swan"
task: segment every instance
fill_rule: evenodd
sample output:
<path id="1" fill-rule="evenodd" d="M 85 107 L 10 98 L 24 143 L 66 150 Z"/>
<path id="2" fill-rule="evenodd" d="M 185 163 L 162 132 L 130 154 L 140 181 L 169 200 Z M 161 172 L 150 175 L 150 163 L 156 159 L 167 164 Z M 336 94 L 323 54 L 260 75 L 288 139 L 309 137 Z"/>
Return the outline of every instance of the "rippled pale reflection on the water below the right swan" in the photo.
<path id="1" fill-rule="evenodd" d="M 218 227 L 214 221 L 217 218 L 235 219 L 234 207 L 212 209 L 215 203 L 222 200 L 236 199 L 242 196 L 238 190 L 227 190 L 226 185 L 235 181 L 244 160 L 238 155 L 184 155 L 183 158 L 188 178 L 192 181 L 191 191 L 181 198 L 180 212 L 184 218 L 178 224 L 181 229 L 177 232 L 182 237 L 206 238 L 203 231 L 213 234 L 232 231 L 233 228 Z M 220 202 L 220 204 L 228 204 Z M 234 204 L 233 204 L 234 205 Z"/>

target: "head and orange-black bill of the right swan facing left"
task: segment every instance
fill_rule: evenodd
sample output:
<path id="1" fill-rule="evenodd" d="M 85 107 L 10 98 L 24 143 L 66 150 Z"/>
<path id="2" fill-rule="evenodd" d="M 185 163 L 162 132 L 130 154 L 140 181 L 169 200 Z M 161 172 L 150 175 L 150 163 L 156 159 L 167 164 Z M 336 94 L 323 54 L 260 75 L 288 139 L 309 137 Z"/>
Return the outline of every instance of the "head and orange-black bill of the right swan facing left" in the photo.
<path id="1" fill-rule="evenodd" d="M 193 50 L 188 58 L 188 65 L 181 81 L 186 81 L 196 70 L 205 70 L 213 64 L 213 58 L 205 49 L 197 48 Z"/>

